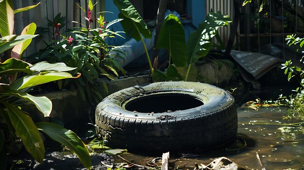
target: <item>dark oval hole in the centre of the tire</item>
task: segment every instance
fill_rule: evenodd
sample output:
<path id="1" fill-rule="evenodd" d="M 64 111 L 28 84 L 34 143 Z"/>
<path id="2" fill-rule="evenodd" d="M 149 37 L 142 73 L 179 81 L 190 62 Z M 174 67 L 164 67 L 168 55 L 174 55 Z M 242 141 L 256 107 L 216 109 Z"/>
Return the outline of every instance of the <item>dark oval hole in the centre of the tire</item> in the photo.
<path id="1" fill-rule="evenodd" d="M 186 110 L 202 106 L 203 102 L 191 95 L 178 93 L 157 93 L 135 98 L 125 105 L 129 111 L 141 113 L 163 113 L 176 110 Z"/>

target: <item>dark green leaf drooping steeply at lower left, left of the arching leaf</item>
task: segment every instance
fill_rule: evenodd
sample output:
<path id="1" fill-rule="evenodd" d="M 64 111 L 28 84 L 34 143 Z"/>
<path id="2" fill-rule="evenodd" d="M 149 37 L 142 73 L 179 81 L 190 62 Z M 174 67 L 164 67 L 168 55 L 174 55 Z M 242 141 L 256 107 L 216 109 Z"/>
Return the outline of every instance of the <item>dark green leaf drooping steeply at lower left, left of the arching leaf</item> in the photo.
<path id="1" fill-rule="evenodd" d="M 44 145 L 31 116 L 12 104 L 3 101 L 1 101 L 1 103 L 7 108 L 8 116 L 10 117 L 17 135 L 22 139 L 25 149 L 35 160 L 42 163 Z"/>

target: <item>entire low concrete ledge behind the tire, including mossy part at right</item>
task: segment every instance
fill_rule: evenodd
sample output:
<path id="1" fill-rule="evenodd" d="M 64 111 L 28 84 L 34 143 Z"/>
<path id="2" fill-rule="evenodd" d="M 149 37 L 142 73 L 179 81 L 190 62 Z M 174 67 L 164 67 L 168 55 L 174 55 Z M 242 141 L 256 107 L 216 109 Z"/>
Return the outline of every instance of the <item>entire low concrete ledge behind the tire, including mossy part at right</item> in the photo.
<path id="1" fill-rule="evenodd" d="M 221 64 L 221 69 L 214 62 L 208 62 L 197 66 L 198 74 L 204 77 L 204 83 L 213 85 L 228 84 L 235 77 L 235 69 L 228 64 Z M 118 80 L 106 82 L 109 94 L 115 93 L 121 89 L 151 82 L 150 76 L 127 77 Z M 43 114 L 29 103 L 29 106 L 23 107 L 25 111 L 33 116 L 34 122 L 47 121 L 59 124 L 73 131 L 85 130 L 85 124 L 95 120 L 95 107 L 88 101 L 82 100 L 78 91 L 58 91 L 40 94 L 46 96 L 52 101 L 52 111 L 50 117 L 43 117 Z"/>

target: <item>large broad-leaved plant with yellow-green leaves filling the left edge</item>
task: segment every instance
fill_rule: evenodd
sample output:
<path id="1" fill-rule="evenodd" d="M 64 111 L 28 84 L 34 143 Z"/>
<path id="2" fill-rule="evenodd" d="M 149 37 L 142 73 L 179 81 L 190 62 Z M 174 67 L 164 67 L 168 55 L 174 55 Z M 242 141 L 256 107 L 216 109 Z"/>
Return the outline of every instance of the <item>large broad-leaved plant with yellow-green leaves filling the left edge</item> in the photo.
<path id="1" fill-rule="evenodd" d="M 37 5 L 13 10 L 12 0 L 0 1 L 0 34 L 2 36 L 0 38 L 0 52 L 12 48 L 10 58 L 0 62 L 0 169 L 6 169 L 7 154 L 16 150 L 14 142 L 18 138 L 21 139 L 25 149 L 34 159 L 42 163 L 45 148 L 39 130 L 49 135 L 51 139 L 67 146 L 78 155 L 85 168 L 91 169 L 88 150 L 74 132 L 53 123 L 38 122 L 34 124 L 31 115 L 22 109 L 24 104 L 17 103 L 20 99 L 29 101 L 44 116 L 50 116 L 51 100 L 45 96 L 33 96 L 28 92 L 36 85 L 80 76 L 78 74 L 73 77 L 67 73 L 67 71 L 76 68 L 68 67 L 65 63 L 38 62 L 32 65 L 19 60 L 32 38 L 37 36 L 34 35 L 36 25 L 31 23 L 24 28 L 21 35 L 15 35 L 13 34 L 14 14 L 29 10 Z M 18 72 L 23 72 L 25 76 L 16 79 Z"/>

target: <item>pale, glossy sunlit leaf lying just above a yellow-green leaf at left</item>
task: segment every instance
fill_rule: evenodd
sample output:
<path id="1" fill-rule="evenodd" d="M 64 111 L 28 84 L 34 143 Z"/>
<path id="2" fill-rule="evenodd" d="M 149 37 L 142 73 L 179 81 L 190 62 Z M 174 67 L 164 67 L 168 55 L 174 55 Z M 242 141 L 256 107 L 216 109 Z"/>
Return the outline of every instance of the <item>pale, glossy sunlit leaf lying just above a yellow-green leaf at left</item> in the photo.
<path id="1" fill-rule="evenodd" d="M 59 71 L 59 72 L 64 72 L 64 71 L 71 71 L 75 70 L 76 67 L 68 67 L 65 63 L 63 62 L 56 62 L 56 63 L 48 63 L 48 62 L 38 62 L 35 63 L 32 67 L 32 71 Z"/>

